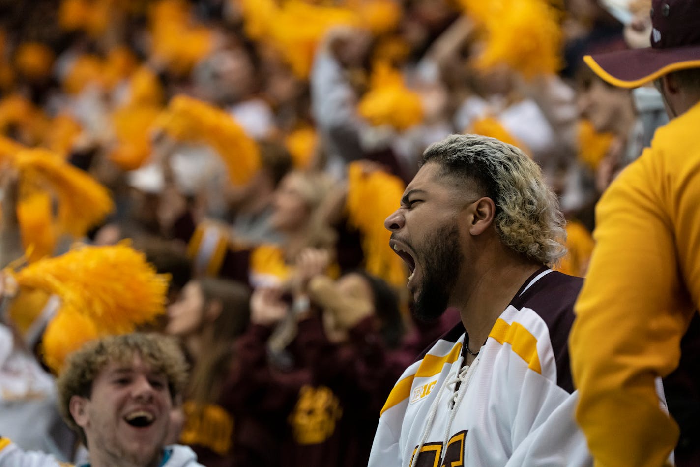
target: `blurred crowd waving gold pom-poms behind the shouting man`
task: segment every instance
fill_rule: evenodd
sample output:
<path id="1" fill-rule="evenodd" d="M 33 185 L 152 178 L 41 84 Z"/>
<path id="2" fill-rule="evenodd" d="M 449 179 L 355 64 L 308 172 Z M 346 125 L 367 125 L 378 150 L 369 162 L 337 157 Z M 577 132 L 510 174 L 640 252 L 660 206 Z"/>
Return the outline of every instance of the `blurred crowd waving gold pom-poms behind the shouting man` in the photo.
<path id="1" fill-rule="evenodd" d="M 188 357 L 169 441 L 200 463 L 365 464 L 396 379 L 459 319 L 412 317 L 384 229 L 423 150 L 524 149 L 568 219 L 560 268 L 584 276 L 598 197 L 666 114 L 582 57 L 647 46 L 649 7 L 0 1 L 0 434 L 81 459 L 54 375 L 147 327 Z"/>

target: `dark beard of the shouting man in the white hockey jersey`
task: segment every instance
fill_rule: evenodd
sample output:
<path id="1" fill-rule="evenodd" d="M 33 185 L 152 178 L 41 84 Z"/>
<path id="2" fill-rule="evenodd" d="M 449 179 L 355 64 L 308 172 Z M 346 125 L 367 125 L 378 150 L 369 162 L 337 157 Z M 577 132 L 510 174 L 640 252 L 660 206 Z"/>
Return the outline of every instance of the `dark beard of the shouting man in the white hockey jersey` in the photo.
<path id="1" fill-rule="evenodd" d="M 459 248 L 456 224 L 444 226 L 426 240 L 423 250 L 421 292 L 414 313 L 421 320 L 435 320 L 447 309 L 464 257 Z"/>

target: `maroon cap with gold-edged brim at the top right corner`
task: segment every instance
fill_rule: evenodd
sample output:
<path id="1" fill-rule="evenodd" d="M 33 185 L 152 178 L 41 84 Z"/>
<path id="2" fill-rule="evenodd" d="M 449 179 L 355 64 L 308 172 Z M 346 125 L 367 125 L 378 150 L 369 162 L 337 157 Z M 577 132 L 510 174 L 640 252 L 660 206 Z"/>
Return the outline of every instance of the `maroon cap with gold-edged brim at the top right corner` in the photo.
<path id="1" fill-rule="evenodd" d="M 679 69 L 700 68 L 700 0 L 652 0 L 651 47 L 586 55 L 613 86 L 636 88 Z"/>

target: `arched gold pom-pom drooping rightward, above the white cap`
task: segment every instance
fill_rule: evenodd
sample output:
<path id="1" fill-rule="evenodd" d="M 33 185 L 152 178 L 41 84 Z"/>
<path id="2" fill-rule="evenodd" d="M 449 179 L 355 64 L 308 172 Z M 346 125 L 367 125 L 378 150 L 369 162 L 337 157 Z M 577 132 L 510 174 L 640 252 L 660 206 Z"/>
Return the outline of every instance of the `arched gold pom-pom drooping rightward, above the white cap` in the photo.
<path id="1" fill-rule="evenodd" d="M 234 184 L 246 184 L 260 168 L 260 149 L 255 140 L 225 111 L 193 97 L 174 97 L 154 126 L 174 140 L 211 146 L 221 156 Z"/>

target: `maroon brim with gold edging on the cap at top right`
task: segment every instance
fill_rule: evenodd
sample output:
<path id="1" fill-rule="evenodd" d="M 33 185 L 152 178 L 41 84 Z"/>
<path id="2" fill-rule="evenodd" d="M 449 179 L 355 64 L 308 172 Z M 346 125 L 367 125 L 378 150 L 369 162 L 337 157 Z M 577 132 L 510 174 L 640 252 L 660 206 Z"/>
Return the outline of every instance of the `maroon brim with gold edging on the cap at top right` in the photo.
<path id="1" fill-rule="evenodd" d="M 637 88 L 679 69 L 700 68 L 700 45 L 618 50 L 586 55 L 583 60 L 595 74 L 613 86 Z"/>

